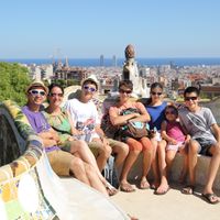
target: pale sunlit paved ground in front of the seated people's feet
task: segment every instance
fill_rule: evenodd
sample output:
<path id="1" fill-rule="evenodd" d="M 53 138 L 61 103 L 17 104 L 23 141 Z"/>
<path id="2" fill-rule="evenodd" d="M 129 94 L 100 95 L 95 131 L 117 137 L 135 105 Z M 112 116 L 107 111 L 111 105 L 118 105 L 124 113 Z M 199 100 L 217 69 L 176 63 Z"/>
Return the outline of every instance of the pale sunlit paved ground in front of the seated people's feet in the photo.
<path id="1" fill-rule="evenodd" d="M 183 195 L 182 186 L 172 186 L 164 195 L 154 195 L 152 189 L 135 193 L 118 193 L 111 200 L 120 206 L 127 213 L 135 216 L 139 220 L 219 220 L 220 204 L 207 204 L 200 196 L 201 188 L 195 195 Z M 220 193 L 217 193 L 220 196 Z"/>

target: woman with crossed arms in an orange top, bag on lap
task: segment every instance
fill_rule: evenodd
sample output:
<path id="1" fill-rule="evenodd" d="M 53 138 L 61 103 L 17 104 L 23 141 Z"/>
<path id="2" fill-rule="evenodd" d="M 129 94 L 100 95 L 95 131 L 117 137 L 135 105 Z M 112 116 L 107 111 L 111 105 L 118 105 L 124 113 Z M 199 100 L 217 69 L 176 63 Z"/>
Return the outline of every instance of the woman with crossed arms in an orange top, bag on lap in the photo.
<path id="1" fill-rule="evenodd" d="M 131 80 L 122 80 L 119 84 L 119 101 L 110 107 L 109 116 L 112 125 L 120 127 L 127 125 L 130 122 L 148 122 L 150 116 L 141 102 L 132 101 L 131 94 L 133 91 L 133 84 Z M 124 110 L 135 109 L 136 112 L 122 114 Z M 141 189 L 150 188 L 150 184 L 146 179 L 148 170 L 152 164 L 152 144 L 148 138 L 143 136 L 140 139 L 133 139 L 131 136 L 120 136 L 121 141 L 125 142 L 129 145 L 129 155 L 124 161 L 124 165 L 121 173 L 121 185 L 120 188 L 122 191 L 131 193 L 135 189 L 128 182 L 128 175 L 136 161 L 139 154 L 143 152 L 143 169 L 141 175 Z"/>

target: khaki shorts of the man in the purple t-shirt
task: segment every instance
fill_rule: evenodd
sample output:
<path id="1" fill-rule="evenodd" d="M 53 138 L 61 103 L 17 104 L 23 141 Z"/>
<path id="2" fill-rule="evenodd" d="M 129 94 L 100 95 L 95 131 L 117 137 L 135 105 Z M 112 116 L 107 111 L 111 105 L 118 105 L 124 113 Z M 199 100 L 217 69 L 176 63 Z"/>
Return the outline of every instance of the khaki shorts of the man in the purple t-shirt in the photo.
<path id="1" fill-rule="evenodd" d="M 59 176 L 69 176 L 70 163 L 74 156 L 70 153 L 56 150 L 47 153 L 50 164 Z"/>

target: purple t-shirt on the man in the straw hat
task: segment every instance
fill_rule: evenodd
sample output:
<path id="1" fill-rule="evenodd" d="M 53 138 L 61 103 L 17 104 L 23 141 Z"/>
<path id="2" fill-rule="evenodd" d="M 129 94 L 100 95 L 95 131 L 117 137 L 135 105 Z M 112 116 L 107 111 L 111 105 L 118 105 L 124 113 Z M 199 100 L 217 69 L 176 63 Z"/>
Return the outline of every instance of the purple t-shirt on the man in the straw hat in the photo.
<path id="1" fill-rule="evenodd" d="M 31 111 L 28 106 L 24 106 L 22 108 L 22 112 L 26 116 L 29 123 L 36 133 L 48 131 L 51 129 L 51 125 L 48 124 L 46 118 L 41 111 L 34 112 Z M 46 152 L 52 152 L 54 150 L 59 150 L 59 147 L 58 146 L 45 147 Z"/>

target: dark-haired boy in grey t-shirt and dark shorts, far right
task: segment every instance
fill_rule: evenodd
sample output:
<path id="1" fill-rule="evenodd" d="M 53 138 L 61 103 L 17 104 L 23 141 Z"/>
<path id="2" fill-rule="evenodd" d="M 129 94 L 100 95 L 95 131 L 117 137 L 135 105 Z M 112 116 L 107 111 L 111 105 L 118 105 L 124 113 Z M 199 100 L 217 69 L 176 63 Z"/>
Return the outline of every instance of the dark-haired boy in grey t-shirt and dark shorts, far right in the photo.
<path id="1" fill-rule="evenodd" d="M 191 136 L 188 145 L 189 182 L 182 193 L 193 194 L 196 184 L 197 153 L 211 156 L 207 183 L 202 197 L 209 204 L 218 204 L 219 197 L 213 193 L 213 180 L 220 164 L 220 130 L 210 109 L 199 106 L 199 89 L 188 87 L 184 91 L 185 108 L 179 110 L 179 119 Z"/>

